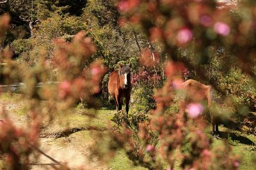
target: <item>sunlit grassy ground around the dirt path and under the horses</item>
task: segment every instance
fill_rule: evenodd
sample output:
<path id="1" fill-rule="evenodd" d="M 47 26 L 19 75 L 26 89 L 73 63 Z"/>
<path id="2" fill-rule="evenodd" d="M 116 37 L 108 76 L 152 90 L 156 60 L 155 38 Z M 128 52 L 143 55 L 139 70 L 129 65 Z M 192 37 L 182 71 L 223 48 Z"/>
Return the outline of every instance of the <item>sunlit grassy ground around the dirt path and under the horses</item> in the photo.
<path id="1" fill-rule="evenodd" d="M 26 103 L 24 103 L 21 97 L 17 94 L 9 96 L 8 94 L 2 94 L 0 96 L 0 101 L 5 101 L 7 104 L 11 104 L 10 110 L 13 111 L 18 117 L 21 115 L 26 115 Z M 43 129 L 43 132 L 54 133 L 61 132 L 65 129 L 72 129 L 74 127 L 88 127 L 87 131 L 74 132 L 67 136 L 66 138 L 52 139 L 52 145 L 60 147 L 69 147 L 70 145 L 76 146 L 76 150 L 83 154 L 89 154 L 89 152 L 84 152 L 84 150 L 89 150 L 90 146 L 93 145 L 95 134 L 104 134 L 102 131 L 95 131 L 95 129 L 107 129 L 113 125 L 111 118 L 113 117 L 115 110 L 98 110 L 95 113 L 95 118 L 89 118 L 86 115 L 86 111 L 80 106 L 74 108 L 70 111 L 70 114 L 66 114 L 56 117 L 56 122 L 52 122 Z M 92 110 L 90 110 L 92 112 Z M 89 127 L 95 127 L 90 130 Z M 211 127 L 207 128 L 205 132 L 209 132 Z M 226 127 L 221 126 L 221 138 L 214 139 L 214 147 L 221 145 L 223 141 L 227 141 L 232 145 L 233 152 L 240 157 L 240 167 L 239 169 L 255 169 L 255 164 L 253 164 L 253 159 L 256 157 L 256 136 L 241 134 L 239 131 L 232 131 Z M 51 144 L 50 143 L 50 144 Z M 87 155 L 88 156 L 88 155 Z M 90 156 L 88 156 L 90 157 Z M 132 161 L 128 159 L 125 155 L 124 150 L 119 150 L 115 157 L 111 159 L 104 167 L 106 169 L 145 169 L 141 166 L 134 166 Z M 0 160 L 0 169 L 3 168 L 3 162 Z"/>

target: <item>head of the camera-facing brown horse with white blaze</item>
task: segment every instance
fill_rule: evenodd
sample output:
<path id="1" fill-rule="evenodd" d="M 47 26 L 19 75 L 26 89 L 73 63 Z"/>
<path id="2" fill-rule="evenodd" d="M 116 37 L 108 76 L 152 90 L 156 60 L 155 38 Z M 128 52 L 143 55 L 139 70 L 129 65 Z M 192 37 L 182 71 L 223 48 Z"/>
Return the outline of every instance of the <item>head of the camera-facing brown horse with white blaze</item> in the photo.
<path id="1" fill-rule="evenodd" d="M 119 75 L 122 87 L 128 89 L 131 85 L 131 64 L 120 66 Z"/>

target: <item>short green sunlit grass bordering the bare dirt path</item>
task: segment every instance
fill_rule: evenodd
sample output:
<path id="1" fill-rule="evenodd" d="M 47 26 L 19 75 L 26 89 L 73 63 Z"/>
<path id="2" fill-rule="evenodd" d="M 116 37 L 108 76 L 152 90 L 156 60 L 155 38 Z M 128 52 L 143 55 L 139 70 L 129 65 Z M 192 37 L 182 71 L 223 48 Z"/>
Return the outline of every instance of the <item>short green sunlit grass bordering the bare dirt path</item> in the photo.
<path id="1" fill-rule="evenodd" d="M 1 94 L 1 101 L 6 101 L 10 103 L 19 104 L 19 108 L 15 110 L 17 116 L 25 115 L 27 110 L 24 107 L 24 101 L 22 101 L 22 96 L 20 94 Z M 94 116 L 88 116 L 88 113 L 93 113 Z M 72 127 L 97 127 L 97 128 L 108 128 L 111 127 L 114 123 L 111 122 L 111 118 L 115 114 L 115 110 L 102 109 L 98 111 L 84 110 L 81 106 L 68 111 L 65 115 L 56 115 L 55 120 L 58 122 L 58 127 L 60 129 L 54 129 L 54 131 L 62 131 L 63 129 L 72 128 Z M 207 127 L 205 132 L 210 132 L 211 127 Z M 239 131 L 232 131 L 223 126 L 220 126 L 220 132 L 222 134 L 221 139 L 214 139 L 213 146 L 220 146 L 223 140 L 227 140 L 232 148 L 233 152 L 240 157 L 240 166 L 239 169 L 255 169 L 255 162 L 253 159 L 256 159 L 256 146 L 253 146 L 253 143 L 256 143 L 256 136 L 241 134 Z M 77 145 L 81 147 L 84 146 L 84 141 L 89 142 L 93 140 L 93 134 L 102 133 L 97 131 L 80 131 L 74 134 L 71 134 L 69 138 L 76 140 Z M 76 138 L 74 138 L 76 137 Z M 97 138 L 95 138 L 96 140 Z M 65 139 L 56 139 L 56 142 L 63 145 L 66 142 Z M 105 146 L 106 147 L 106 146 Z M 0 160 L 0 169 L 3 166 L 3 161 Z M 132 161 L 128 159 L 124 150 L 119 150 L 115 157 L 111 159 L 108 163 L 109 169 L 145 169 L 140 166 L 134 166 Z"/>

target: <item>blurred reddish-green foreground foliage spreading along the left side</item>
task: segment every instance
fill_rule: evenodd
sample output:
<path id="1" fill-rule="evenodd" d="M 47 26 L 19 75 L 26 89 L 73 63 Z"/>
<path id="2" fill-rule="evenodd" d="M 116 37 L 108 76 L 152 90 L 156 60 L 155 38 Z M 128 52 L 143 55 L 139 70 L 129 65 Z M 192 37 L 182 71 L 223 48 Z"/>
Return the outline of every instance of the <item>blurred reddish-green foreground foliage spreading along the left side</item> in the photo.
<path id="1" fill-rule="evenodd" d="M 2 20 L 6 18 L 0 19 L 0 23 L 5 23 Z M 8 28 L 8 21 L 3 27 Z M 49 73 L 44 51 L 39 53 L 38 62 L 29 69 L 24 64 L 18 65 L 8 49 L 1 52 L 1 57 L 6 62 L 4 80 L 7 83 L 14 80 L 24 82 L 23 98 L 29 101 L 28 115 L 32 120 L 25 129 L 18 128 L 12 125 L 5 110 L 1 111 L 4 119 L 0 122 L 0 153 L 4 156 L 8 169 L 29 168 L 28 158 L 36 150 L 40 125 L 45 114 L 52 117 L 48 113 L 67 111 L 80 97 L 93 103 L 91 97 L 99 92 L 99 81 L 105 69 L 100 60 L 95 60 L 84 68 L 86 60 L 95 52 L 95 46 L 90 38 L 85 38 L 85 32 L 79 32 L 70 43 L 64 39 L 56 39 L 54 43 L 56 49 L 52 61 L 53 67 L 58 70 L 57 80 L 60 84 L 51 88 L 42 87 L 40 90 L 37 89 L 37 84 L 47 81 Z M 44 100 L 47 102 L 41 103 Z"/>

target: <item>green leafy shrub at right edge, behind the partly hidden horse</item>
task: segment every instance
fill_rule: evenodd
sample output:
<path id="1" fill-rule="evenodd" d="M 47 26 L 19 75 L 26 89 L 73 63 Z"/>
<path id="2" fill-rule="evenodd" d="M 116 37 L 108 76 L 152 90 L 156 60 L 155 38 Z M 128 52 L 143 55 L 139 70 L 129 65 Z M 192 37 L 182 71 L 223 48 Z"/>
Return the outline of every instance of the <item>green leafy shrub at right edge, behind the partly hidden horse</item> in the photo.
<path id="1" fill-rule="evenodd" d="M 242 131 L 254 133 L 255 124 L 251 120 L 255 115 L 248 114 L 248 110 L 255 110 L 255 83 L 250 76 L 241 71 L 239 64 L 234 60 L 235 56 L 227 53 L 214 55 L 211 62 L 204 66 L 205 73 L 221 91 L 215 95 L 215 101 L 236 112 L 233 121 L 243 122 L 239 125 Z M 228 66 L 230 62 L 233 64 Z M 230 116 L 234 117 L 234 114 Z"/>

